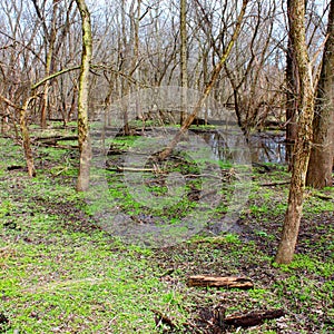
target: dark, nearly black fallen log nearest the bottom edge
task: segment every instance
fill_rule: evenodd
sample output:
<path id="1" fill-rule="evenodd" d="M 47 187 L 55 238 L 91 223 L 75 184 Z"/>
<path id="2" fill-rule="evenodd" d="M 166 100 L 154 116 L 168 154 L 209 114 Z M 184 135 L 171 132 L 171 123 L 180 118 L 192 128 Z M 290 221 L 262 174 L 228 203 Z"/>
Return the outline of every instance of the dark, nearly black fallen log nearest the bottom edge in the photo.
<path id="1" fill-rule="evenodd" d="M 216 313 L 219 314 L 219 313 Z M 252 311 L 244 315 L 230 315 L 223 320 L 219 316 L 216 318 L 216 323 L 219 326 L 234 326 L 234 327 L 252 327 L 263 324 L 267 320 L 278 318 L 284 316 L 285 312 L 283 310 L 268 310 L 268 311 Z M 223 323 L 223 324 L 222 324 Z"/>

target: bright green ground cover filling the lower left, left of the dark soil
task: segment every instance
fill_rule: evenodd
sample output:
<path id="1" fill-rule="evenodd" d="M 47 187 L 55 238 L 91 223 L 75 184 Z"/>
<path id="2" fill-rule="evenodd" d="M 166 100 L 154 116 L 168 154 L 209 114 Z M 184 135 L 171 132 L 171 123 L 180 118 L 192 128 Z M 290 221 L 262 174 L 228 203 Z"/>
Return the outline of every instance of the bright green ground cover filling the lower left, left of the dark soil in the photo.
<path id="1" fill-rule="evenodd" d="M 20 149 L 7 154 L 22 163 Z M 147 249 L 120 247 L 98 229 L 68 229 L 78 217 L 62 206 L 86 204 L 72 185 L 55 178 L 63 151 L 50 149 L 48 157 L 56 167 L 33 179 L 13 171 L 14 180 L 1 165 L 0 312 L 10 318 L 2 331 L 153 333 L 153 308 L 185 320 L 179 292 L 159 281 Z M 6 224 L 11 220 L 14 227 Z"/>

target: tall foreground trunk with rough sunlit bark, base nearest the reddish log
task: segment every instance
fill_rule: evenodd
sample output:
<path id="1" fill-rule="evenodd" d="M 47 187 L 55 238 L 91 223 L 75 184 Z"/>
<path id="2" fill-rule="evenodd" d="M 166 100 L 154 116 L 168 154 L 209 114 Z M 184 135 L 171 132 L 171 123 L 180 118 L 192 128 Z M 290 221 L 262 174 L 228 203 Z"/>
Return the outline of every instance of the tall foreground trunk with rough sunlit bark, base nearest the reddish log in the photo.
<path id="1" fill-rule="evenodd" d="M 295 252 L 303 209 L 303 196 L 311 153 L 312 121 L 314 116 L 314 88 L 312 67 L 308 60 L 305 40 L 304 0 L 292 0 L 289 6 L 289 29 L 298 68 L 298 85 L 301 91 L 298 96 L 297 138 L 293 151 L 294 160 L 292 166 L 288 207 L 275 258 L 278 264 L 289 263 Z"/>

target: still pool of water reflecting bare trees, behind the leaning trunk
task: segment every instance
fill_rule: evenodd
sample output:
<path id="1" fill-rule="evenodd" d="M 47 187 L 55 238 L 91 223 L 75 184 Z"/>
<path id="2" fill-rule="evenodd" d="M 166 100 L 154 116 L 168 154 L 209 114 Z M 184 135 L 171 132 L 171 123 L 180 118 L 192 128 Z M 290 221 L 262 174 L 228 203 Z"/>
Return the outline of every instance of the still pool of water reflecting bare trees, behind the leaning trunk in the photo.
<path id="1" fill-rule="evenodd" d="M 203 132 L 203 138 L 210 145 L 212 150 L 216 157 L 222 161 L 237 161 L 242 157 L 238 157 L 239 154 L 236 150 L 233 151 L 230 148 L 236 149 L 242 147 L 240 140 L 244 140 L 240 136 L 234 136 L 233 131 L 230 132 L 217 132 L 209 131 Z M 285 163 L 285 135 L 282 134 L 256 134 L 249 138 L 249 149 L 252 155 L 253 163 Z M 239 145 L 238 145 L 239 144 Z"/>

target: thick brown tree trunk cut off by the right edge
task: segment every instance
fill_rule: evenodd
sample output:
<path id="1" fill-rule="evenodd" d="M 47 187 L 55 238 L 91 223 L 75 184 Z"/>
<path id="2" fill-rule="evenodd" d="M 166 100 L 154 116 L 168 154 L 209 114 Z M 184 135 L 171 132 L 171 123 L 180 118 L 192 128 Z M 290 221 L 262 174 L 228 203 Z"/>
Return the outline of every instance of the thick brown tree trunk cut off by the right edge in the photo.
<path id="1" fill-rule="evenodd" d="M 334 1 L 331 1 L 327 40 L 317 86 L 313 120 L 313 146 L 311 150 L 306 185 L 314 188 L 333 185 L 334 158 Z"/>

